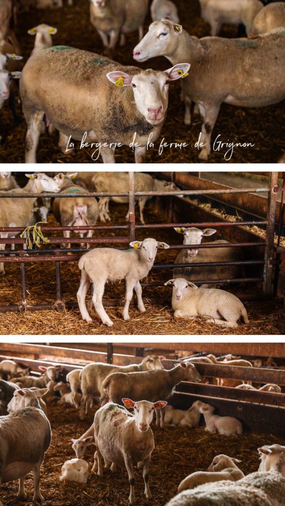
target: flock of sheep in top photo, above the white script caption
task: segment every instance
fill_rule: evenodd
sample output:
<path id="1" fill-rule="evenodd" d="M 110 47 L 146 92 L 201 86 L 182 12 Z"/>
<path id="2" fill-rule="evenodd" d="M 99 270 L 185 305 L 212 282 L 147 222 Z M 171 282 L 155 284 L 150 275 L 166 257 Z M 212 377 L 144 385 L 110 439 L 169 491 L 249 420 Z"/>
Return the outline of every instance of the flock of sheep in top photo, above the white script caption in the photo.
<path id="1" fill-rule="evenodd" d="M 36 162 L 39 137 L 47 128 L 58 130 L 58 145 L 64 152 L 74 148 L 73 140 L 81 141 L 81 147 L 96 148 L 95 160 L 100 154 L 104 163 L 112 163 L 116 148 L 127 145 L 134 148 L 135 162 L 144 162 L 163 127 L 168 84 L 180 78 L 185 124 L 191 124 L 192 102 L 202 118 L 198 149 L 203 160 L 210 154 L 211 133 L 223 102 L 264 107 L 283 100 L 284 3 L 264 7 L 259 0 L 199 1 L 201 17 L 210 24 L 212 35 L 201 39 L 179 24 L 179 13 L 170 0 L 153 0 L 153 23 L 145 36 L 147 0 L 90 0 L 90 21 L 102 40 L 103 55 L 52 47 L 57 30 L 42 23 L 28 31 L 35 35 L 35 45 L 20 77 L 21 64 L 15 56 L 20 47 L 11 28 L 17 10 L 20 17 L 29 7 L 62 7 L 63 2 L 1 0 L 0 108 L 9 98 L 11 79 L 20 77 L 26 162 Z M 68 5 L 72 3 L 68 0 Z M 243 23 L 247 38 L 217 37 L 224 22 Z M 133 49 L 134 60 L 164 56 L 170 68 L 141 70 L 109 59 L 118 41 L 124 45 L 125 35 L 136 29 L 139 43 Z M 12 98 L 10 104 L 16 117 Z"/>

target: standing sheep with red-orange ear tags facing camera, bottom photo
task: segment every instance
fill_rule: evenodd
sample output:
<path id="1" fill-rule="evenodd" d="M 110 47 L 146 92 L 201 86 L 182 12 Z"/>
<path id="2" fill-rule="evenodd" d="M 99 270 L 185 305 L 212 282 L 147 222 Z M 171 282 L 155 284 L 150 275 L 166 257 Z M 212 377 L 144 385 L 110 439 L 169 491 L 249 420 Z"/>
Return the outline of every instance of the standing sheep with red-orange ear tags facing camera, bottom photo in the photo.
<path id="1" fill-rule="evenodd" d="M 135 373 L 131 373 L 135 374 Z M 137 373 L 138 374 L 138 373 Z M 149 373 L 140 373 L 149 374 Z M 101 457 L 109 460 L 114 466 L 126 466 L 130 482 L 130 504 L 135 503 L 133 464 L 142 462 L 145 482 L 145 496 L 150 499 L 149 463 L 154 449 L 154 437 L 150 428 L 155 409 L 162 409 L 167 403 L 157 401 L 134 402 L 122 399 L 127 408 L 134 409 L 131 414 L 121 405 L 109 403 L 102 406 L 95 413 L 94 437 L 97 448 L 97 463 L 94 470 L 98 476 L 103 476 Z"/>

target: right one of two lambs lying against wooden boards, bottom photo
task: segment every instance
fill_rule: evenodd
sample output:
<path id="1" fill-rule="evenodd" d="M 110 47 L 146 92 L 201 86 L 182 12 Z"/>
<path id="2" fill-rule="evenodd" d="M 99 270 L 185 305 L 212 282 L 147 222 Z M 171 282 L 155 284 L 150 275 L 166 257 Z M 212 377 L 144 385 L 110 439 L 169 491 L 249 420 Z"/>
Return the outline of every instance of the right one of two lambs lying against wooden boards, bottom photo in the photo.
<path id="1" fill-rule="evenodd" d="M 213 414 L 215 408 L 210 406 L 210 404 L 204 404 L 200 407 L 200 413 L 204 415 L 205 419 L 205 431 L 219 434 L 223 434 L 225 436 L 232 436 L 234 434 L 241 435 L 242 434 L 242 424 L 236 418 L 232 416 L 219 416 L 217 414 Z"/>

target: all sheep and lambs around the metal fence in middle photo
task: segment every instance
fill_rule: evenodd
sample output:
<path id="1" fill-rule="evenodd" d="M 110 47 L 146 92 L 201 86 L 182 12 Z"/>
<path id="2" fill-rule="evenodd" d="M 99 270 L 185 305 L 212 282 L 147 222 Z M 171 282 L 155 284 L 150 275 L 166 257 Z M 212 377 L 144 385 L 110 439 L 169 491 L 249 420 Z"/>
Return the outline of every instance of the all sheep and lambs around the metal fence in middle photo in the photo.
<path id="1" fill-rule="evenodd" d="M 113 191 L 114 182 L 116 191 L 127 191 L 128 174 L 118 173 L 114 178 L 113 173 L 73 173 L 64 175 L 58 173 L 51 178 L 45 174 L 29 174 L 28 183 L 24 188 L 14 188 L 12 192 L 20 193 L 41 193 L 43 191 L 72 194 L 86 192 L 80 185 L 75 185 L 73 180 L 82 183 L 85 187 L 96 191 Z M 90 184 L 91 179 L 91 184 Z M 0 183 L 3 181 L 0 190 L 8 190 L 9 182 L 15 186 L 16 182 L 10 173 L 1 173 Z M 135 173 L 135 189 L 139 191 L 152 191 L 153 189 L 163 189 L 170 191 L 173 185 L 164 181 L 158 181 L 152 176 L 146 174 Z M 115 201 L 121 201 L 120 197 L 111 197 Z M 140 216 L 147 199 L 150 197 L 136 197 L 140 209 Z M 52 204 L 53 214 L 62 226 L 92 226 L 96 224 L 98 216 L 106 216 L 108 214 L 108 198 L 99 199 L 99 204 L 95 197 L 74 197 L 60 198 L 56 197 Z M 125 201 L 125 198 L 122 199 Z M 46 202 L 46 200 L 45 200 Z M 46 202 L 50 205 L 50 201 Z M 47 207 L 39 205 L 34 207 L 34 199 L 32 198 L 9 198 L 0 202 L 0 226 L 2 227 L 27 227 L 34 224 L 34 210 L 41 211 L 43 207 L 47 213 Z M 18 209 L 21 212 L 18 212 Z M 101 209 L 101 214 L 99 212 Z M 104 209 L 104 215 L 102 215 Z M 109 216 L 109 215 L 108 215 Z M 13 218 L 12 218 L 13 217 Z M 101 218 L 102 219 L 102 218 Z M 197 228 L 175 228 L 176 232 L 184 234 L 184 244 L 191 245 L 192 248 L 183 249 L 176 257 L 175 264 L 183 266 L 174 268 L 173 278 L 164 282 L 164 284 L 172 286 L 172 309 L 174 317 L 193 319 L 196 316 L 204 316 L 205 320 L 210 324 L 221 325 L 223 327 L 238 327 L 238 321 L 243 319 L 244 323 L 249 323 L 247 312 L 241 301 L 232 293 L 219 288 L 211 288 L 208 283 L 197 287 L 191 282 L 195 279 L 195 269 L 191 264 L 195 262 L 208 261 L 209 254 L 204 254 L 193 245 L 200 244 L 203 236 L 210 236 L 216 232 L 215 229 L 199 230 Z M 19 233 L 19 232 L 18 232 Z M 92 237 L 93 231 L 87 232 L 87 240 Z M 14 237 L 14 232 L 0 232 L 1 238 Z M 70 232 L 64 231 L 64 237 L 69 238 Z M 81 240 L 83 240 L 84 231 L 80 232 Z M 217 243 L 225 243 L 228 241 L 215 241 Z M 93 286 L 92 303 L 103 324 L 111 327 L 113 321 L 109 318 L 103 308 L 102 298 L 104 294 L 105 283 L 107 281 L 125 280 L 125 305 L 123 309 L 123 319 L 129 319 L 129 305 L 133 296 L 133 290 L 137 296 L 137 307 L 140 312 L 145 312 L 145 306 L 142 301 L 142 289 L 139 281 L 145 278 L 154 265 L 158 249 L 168 249 L 169 245 L 163 241 L 157 241 L 154 238 L 146 238 L 143 241 L 132 241 L 129 243 L 131 249 L 120 250 L 116 248 L 96 247 L 85 253 L 79 261 L 79 269 L 81 270 L 81 282 L 77 292 L 77 299 L 82 319 L 86 322 L 93 322 L 86 307 L 86 294 L 91 283 Z M 70 247 L 70 244 L 63 243 L 63 247 Z M 1 249 L 5 249 L 5 243 L 0 244 Z M 225 251 L 227 250 L 227 251 Z M 198 254 L 199 251 L 199 254 Z M 233 261 L 239 257 L 236 248 L 213 248 L 211 250 L 211 258 L 213 261 Z M 188 266 L 184 267 L 184 264 Z M 189 266 L 190 265 L 190 266 Z M 213 268 L 202 273 L 208 280 L 219 279 L 218 271 Z M 233 278 L 237 272 L 236 267 L 229 267 L 227 278 Z M 4 274 L 4 263 L 0 263 L 0 273 Z M 218 277 L 217 277 L 218 276 Z"/>

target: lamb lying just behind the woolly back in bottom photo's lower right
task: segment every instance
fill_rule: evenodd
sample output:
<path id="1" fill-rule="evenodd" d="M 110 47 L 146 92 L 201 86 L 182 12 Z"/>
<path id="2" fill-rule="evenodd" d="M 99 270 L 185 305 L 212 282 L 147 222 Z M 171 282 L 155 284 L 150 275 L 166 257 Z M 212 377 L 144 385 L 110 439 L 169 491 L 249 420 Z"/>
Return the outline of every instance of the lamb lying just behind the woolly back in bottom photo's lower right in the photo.
<path id="1" fill-rule="evenodd" d="M 243 472 L 240 471 L 235 462 L 241 462 L 241 460 L 227 455 L 217 455 L 207 471 L 196 471 L 182 480 L 177 492 L 192 489 L 204 483 L 222 480 L 237 481 L 244 478 Z"/>

